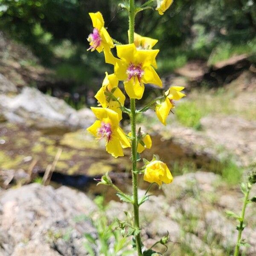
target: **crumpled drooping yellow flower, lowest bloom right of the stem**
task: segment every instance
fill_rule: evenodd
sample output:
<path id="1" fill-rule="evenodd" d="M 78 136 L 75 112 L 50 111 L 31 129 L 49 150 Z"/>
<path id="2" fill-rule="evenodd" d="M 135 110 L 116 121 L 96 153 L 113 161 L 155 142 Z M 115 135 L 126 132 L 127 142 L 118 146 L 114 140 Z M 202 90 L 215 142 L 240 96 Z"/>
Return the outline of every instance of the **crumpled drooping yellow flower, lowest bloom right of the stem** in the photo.
<path id="1" fill-rule="evenodd" d="M 157 183 L 159 186 L 162 182 L 168 184 L 173 180 L 172 174 L 167 165 L 161 161 L 155 160 L 145 167 L 144 180 L 150 183 Z"/>

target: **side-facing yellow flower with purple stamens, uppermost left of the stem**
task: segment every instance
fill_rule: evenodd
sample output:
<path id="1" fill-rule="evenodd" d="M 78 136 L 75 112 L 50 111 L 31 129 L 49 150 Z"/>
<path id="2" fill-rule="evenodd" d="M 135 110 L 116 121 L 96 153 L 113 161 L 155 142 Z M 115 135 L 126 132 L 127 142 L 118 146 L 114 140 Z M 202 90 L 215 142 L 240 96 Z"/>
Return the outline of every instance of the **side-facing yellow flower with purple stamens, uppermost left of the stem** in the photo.
<path id="1" fill-rule="evenodd" d="M 88 36 L 87 40 L 90 43 L 90 48 L 87 51 L 102 52 L 103 49 L 110 49 L 114 47 L 113 41 L 104 27 L 104 20 L 100 12 L 89 13 L 93 22 L 93 32 Z"/>

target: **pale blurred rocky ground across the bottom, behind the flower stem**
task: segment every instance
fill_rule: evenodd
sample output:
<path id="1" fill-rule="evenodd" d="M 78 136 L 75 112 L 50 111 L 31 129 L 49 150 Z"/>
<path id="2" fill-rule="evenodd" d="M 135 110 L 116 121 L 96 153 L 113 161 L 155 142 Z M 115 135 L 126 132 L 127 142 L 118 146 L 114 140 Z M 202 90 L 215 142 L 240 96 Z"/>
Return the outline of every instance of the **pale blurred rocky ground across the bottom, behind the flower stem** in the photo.
<path id="1" fill-rule="evenodd" d="M 140 196 L 144 192 L 140 191 Z M 242 195 L 238 189 L 228 189 L 218 175 L 196 172 L 175 177 L 171 185 L 163 186 L 163 192 L 151 196 L 140 208 L 146 247 L 168 231 L 171 242 L 166 256 L 185 255 L 186 250 L 190 251 L 186 255 L 205 256 L 231 252 L 236 242 L 236 223 L 227 218 L 225 210 L 239 213 Z M 0 205 L 3 256 L 84 256 L 87 255 L 84 233 L 96 238 L 99 235 L 90 218 L 79 218 L 97 216 L 96 205 L 84 193 L 66 186 L 53 189 L 32 183 L 2 190 Z M 111 201 L 106 214 L 112 221 L 116 217 L 124 219 L 125 210 L 131 210 L 126 203 Z M 246 219 L 248 225 L 243 236 L 251 246 L 246 248 L 245 255 L 253 256 L 256 253 L 253 204 L 247 208 Z"/>

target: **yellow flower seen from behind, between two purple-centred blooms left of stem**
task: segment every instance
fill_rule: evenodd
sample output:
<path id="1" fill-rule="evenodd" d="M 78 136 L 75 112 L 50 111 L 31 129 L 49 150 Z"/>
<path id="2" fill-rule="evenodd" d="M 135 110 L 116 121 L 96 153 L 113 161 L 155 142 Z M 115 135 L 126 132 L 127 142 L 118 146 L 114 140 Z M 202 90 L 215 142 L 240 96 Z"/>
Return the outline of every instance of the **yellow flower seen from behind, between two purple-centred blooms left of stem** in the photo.
<path id="1" fill-rule="evenodd" d="M 108 72 L 105 73 L 105 79 L 102 82 L 102 87 L 96 93 L 95 98 L 99 101 L 100 105 L 103 108 L 109 108 L 118 113 L 119 120 L 122 119 L 122 110 L 120 109 L 119 103 L 111 98 L 111 95 L 108 95 L 108 91 L 119 100 L 123 106 L 125 103 L 125 96 L 122 91 L 117 87 L 118 79 L 115 74 L 108 75 Z"/>

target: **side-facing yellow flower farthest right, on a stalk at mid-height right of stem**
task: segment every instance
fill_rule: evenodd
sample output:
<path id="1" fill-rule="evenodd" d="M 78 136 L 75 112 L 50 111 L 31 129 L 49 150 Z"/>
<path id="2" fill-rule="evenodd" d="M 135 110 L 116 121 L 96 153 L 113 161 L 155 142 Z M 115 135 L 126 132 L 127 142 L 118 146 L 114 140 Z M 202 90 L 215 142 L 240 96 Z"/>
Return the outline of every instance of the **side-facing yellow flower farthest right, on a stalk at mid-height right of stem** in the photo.
<path id="1" fill-rule="evenodd" d="M 172 86 L 165 92 L 166 98 L 163 102 L 157 103 L 155 111 L 158 119 L 163 125 L 166 125 L 166 119 L 172 108 L 175 108 L 173 100 L 179 100 L 186 94 L 180 92 L 183 86 Z"/>

